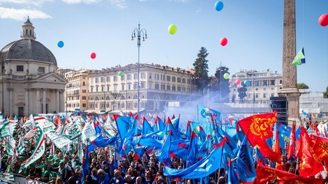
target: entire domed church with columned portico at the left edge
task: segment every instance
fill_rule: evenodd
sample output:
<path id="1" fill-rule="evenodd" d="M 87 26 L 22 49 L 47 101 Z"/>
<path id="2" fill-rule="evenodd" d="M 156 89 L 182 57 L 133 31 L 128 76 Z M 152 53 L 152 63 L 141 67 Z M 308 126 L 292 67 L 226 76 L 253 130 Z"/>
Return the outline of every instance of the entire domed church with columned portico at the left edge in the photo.
<path id="1" fill-rule="evenodd" d="M 57 60 L 36 41 L 29 18 L 20 40 L 0 50 L 0 107 L 4 116 L 64 112 L 66 79 L 57 74 Z"/>

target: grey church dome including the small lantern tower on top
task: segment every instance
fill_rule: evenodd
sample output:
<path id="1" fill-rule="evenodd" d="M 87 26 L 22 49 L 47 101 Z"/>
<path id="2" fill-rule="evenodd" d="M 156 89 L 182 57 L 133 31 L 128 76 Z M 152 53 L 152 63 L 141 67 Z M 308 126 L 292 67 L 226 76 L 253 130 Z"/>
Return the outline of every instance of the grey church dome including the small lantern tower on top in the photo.
<path id="1" fill-rule="evenodd" d="M 36 35 L 34 33 L 34 26 L 29 21 L 22 25 L 22 39 L 9 43 L 3 49 L 0 50 L 0 61 L 40 61 L 46 63 L 53 63 L 57 66 L 56 58 L 54 54 L 45 47 L 42 43 L 36 41 Z"/>

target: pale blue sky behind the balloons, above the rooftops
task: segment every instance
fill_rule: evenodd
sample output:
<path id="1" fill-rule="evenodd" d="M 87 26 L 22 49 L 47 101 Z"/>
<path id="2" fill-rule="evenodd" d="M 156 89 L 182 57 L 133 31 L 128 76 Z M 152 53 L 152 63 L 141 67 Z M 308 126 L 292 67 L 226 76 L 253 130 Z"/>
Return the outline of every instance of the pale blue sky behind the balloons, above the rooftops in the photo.
<path id="1" fill-rule="evenodd" d="M 201 47 L 207 49 L 209 75 L 229 68 L 282 72 L 283 0 L 225 0 L 217 11 L 212 0 L 0 0 L 0 47 L 20 40 L 27 16 L 36 40 L 52 51 L 59 68 L 110 68 L 137 63 L 140 24 L 147 39 L 140 63 L 193 68 Z M 296 0 L 297 52 L 304 47 L 306 63 L 297 66 L 297 83 L 313 92 L 328 86 L 327 0 Z M 175 24 L 177 33 L 168 32 Z M 228 44 L 220 45 L 221 38 Z M 58 47 L 59 41 L 64 47 Z M 96 53 L 96 59 L 90 54 Z M 292 62 L 292 61 L 290 61 Z"/>

